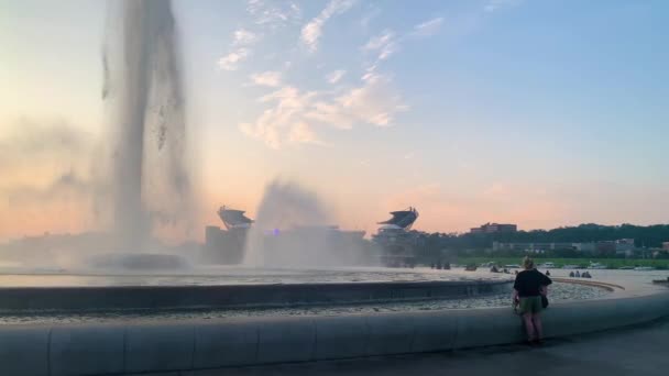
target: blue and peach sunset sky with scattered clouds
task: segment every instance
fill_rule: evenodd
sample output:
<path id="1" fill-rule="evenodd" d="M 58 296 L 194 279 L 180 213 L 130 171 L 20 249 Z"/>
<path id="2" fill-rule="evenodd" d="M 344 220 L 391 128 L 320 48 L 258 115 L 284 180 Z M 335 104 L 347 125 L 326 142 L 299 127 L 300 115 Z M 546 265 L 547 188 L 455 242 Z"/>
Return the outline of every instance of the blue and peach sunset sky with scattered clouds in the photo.
<path id="1" fill-rule="evenodd" d="M 0 240 L 98 226 L 108 5 L 0 0 Z M 669 2 L 174 9 L 202 229 L 276 178 L 368 232 L 669 222 Z"/>

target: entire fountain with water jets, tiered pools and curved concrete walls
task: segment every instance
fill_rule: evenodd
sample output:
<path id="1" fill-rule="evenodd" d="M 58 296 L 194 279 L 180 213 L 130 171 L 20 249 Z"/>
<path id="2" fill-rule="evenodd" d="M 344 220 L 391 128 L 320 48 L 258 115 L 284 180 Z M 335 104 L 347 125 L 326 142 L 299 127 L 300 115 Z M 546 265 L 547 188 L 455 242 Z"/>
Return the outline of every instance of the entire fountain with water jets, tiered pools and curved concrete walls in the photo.
<path id="1" fill-rule="evenodd" d="M 245 265 L 190 268 L 178 256 L 154 255 L 152 231 L 162 223 L 188 221 L 184 213 L 190 203 L 178 37 L 171 2 L 114 4 L 120 5 L 119 18 L 110 18 L 102 97 L 112 110 L 109 206 L 119 252 L 97 261 L 102 268 L 113 266 L 118 275 L 95 269 L 76 275 L 0 275 L 0 323 L 9 323 L 0 324 L 0 374 L 179 373 L 523 340 L 520 321 L 509 307 L 430 306 L 487 294 L 496 294 L 501 305 L 508 303 L 511 285 L 504 277 L 484 272 L 333 268 L 342 264 L 341 257 L 332 254 L 321 230 L 307 229 L 308 241 L 300 231 L 283 237 L 286 242 L 267 237 L 265 231 L 277 226 L 304 230 L 329 224 L 318 199 L 292 184 L 268 186 L 249 236 Z M 163 270 L 156 272 L 156 266 Z M 618 291 L 617 297 L 625 299 L 551 305 L 549 335 L 586 333 L 669 314 L 669 295 L 636 292 Z M 379 313 L 377 308 L 388 302 L 404 306 Z M 407 306 L 415 302 L 424 305 Z M 485 299 L 481 302 L 490 307 Z M 337 308 L 321 311 L 325 314 L 299 311 L 289 317 L 295 314 L 286 310 L 342 305 L 348 305 L 346 312 Z M 366 308 L 359 310 L 361 305 Z M 275 310 L 249 318 L 257 308 L 270 307 Z M 129 316 L 140 310 L 153 312 L 152 322 Z M 172 314 L 175 310 L 186 311 L 186 317 Z M 226 312 L 232 310 L 241 313 L 230 319 Z M 56 319 L 46 317 L 64 311 Z M 77 319 L 89 311 L 117 316 L 103 324 L 100 317 L 86 323 Z"/>

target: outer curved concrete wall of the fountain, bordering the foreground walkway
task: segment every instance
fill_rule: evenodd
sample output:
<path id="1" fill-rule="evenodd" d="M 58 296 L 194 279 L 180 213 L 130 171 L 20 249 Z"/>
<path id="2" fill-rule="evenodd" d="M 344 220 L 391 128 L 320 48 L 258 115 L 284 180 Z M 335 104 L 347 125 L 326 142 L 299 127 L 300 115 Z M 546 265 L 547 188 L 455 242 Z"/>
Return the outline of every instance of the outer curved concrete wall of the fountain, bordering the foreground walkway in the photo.
<path id="1" fill-rule="evenodd" d="M 669 316 L 669 294 L 551 306 L 548 338 Z M 340 317 L 0 327 L 0 375 L 122 375 L 520 342 L 511 308 Z"/>

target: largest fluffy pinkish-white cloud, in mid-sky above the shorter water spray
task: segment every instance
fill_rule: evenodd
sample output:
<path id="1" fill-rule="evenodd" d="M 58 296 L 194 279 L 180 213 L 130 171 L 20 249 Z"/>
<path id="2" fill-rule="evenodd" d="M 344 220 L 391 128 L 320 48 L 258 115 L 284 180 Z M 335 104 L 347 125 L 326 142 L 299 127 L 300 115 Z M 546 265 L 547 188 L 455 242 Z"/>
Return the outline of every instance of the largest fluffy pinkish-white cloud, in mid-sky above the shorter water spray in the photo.
<path id="1" fill-rule="evenodd" d="M 281 148 L 286 143 L 326 144 L 316 126 L 341 130 L 358 124 L 388 126 L 398 112 L 407 109 L 391 78 L 374 73 L 338 96 L 284 86 L 261 97 L 260 102 L 271 107 L 254 122 L 242 123 L 239 128 L 272 148 Z"/>

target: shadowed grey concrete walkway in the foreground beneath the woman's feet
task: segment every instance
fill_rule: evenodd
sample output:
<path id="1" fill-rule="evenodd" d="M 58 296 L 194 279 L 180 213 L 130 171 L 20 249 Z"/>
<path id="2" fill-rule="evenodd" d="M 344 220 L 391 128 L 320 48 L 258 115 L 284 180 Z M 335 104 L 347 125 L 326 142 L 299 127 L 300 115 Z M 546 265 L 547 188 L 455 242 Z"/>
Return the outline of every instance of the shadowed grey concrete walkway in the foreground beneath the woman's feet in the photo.
<path id="1" fill-rule="evenodd" d="M 528 373 L 528 368 L 533 371 Z M 182 372 L 178 376 L 440 374 L 666 376 L 669 374 L 669 320 L 588 338 L 552 340 L 539 349 L 495 346 L 437 354 Z"/>

